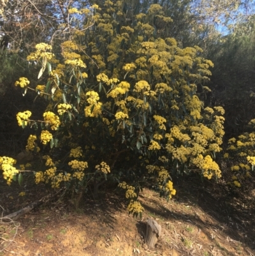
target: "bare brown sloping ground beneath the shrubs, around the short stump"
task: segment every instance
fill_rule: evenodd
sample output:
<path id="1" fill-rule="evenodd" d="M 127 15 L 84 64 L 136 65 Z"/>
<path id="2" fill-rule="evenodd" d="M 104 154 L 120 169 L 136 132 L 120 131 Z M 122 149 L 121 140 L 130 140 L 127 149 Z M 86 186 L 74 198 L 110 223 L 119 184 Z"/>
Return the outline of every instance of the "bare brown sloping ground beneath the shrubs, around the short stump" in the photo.
<path id="1" fill-rule="evenodd" d="M 76 199 L 52 200 L 18 222 L 0 222 L 0 255 L 255 255 L 253 190 L 233 197 L 219 184 L 195 178 L 175 187 L 170 202 L 145 188 L 142 219 L 129 216 L 123 197 L 113 192 L 82 199 L 79 207 Z M 0 206 L 11 213 L 46 193 L 43 185 L 24 189 L 0 181 Z M 156 248 L 145 243 L 147 218 L 163 229 Z"/>

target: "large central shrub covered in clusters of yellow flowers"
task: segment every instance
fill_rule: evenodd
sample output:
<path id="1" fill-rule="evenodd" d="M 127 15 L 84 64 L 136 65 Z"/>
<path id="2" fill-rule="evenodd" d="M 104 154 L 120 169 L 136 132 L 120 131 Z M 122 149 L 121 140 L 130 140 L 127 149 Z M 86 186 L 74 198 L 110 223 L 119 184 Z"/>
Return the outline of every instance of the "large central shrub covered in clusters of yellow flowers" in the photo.
<path id="1" fill-rule="evenodd" d="M 20 126 L 34 128 L 26 149 L 49 152 L 45 167 L 35 170 L 36 183 L 79 189 L 91 181 L 98 188 L 107 177 L 123 181 L 128 211 L 138 215 L 145 180 L 171 199 L 171 175 L 191 167 L 208 179 L 221 177 L 214 158 L 221 151 L 224 110 L 204 107 L 196 93 L 213 66 L 202 49 L 182 49 L 156 31 L 153 17 L 166 27 L 172 21 L 159 4 L 130 17 L 132 23 L 122 1 L 105 1 L 102 11 L 69 8 L 68 15 L 92 17 L 94 29 L 75 30 L 73 40 L 62 42 L 61 56 L 47 43 L 36 45 L 27 60 L 41 63 L 38 78 L 45 85 L 40 80 L 28 87 L 24 77 L 15 83 L 48 102 L 41 121 L 30 119 L 29 110 L 17 114 Z"/>

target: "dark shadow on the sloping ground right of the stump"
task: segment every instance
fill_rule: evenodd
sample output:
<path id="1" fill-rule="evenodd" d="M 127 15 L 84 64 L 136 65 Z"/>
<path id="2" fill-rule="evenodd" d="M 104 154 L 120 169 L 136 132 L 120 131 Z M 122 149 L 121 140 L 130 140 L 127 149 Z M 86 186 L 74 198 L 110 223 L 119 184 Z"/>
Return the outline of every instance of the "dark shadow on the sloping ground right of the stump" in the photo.
<path id="1" fill-rule="evenodd" d="M 220 184 L 217 184 L 218 188 L 215 190 L 215 184 L 201 183 L 198 177 L 188 177 L 188 179 L 182 179 L 180 182 L 175 181 L 174 184 L 177 195 L 174 197 L 173 202 L 184 204 L 187 207 L 199 207 L 216 220 L 217 222 L 215 223 L 218 224 L 215 225 L 208 220 L 202 220 L 201 216 L 196 213 L 184 214 L 175 211 L 174 204 L 170 208 L 160 206 L 155 209 L 149 206 L 150 202 L 155 202 L 154 199 L 147 199 L 148 204 L 147 202 L 143 203 L 145 211 L 154 213 L 167 220 L 180 220 L 187 224 L 193 223 L 209 238 L 211 237 L 211 229 L 216 232 L 220 230 L 224 232 L 226 237 L 230 238 L 230 241 L 231 239 L 239 241 L 247 249 L 255 250 L 254 200 L 249 205 L 249 209 L 247 207 L 242 209 L 242 207 L 238 207 L 238 204 L 235 204 L 236 197 L 231 196 L 227 192 L 225 193 L 224 188 L 221 188 Z M 228 255 L 234 256 L 231 252 L 228 252 Z"/>

